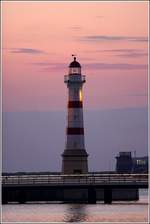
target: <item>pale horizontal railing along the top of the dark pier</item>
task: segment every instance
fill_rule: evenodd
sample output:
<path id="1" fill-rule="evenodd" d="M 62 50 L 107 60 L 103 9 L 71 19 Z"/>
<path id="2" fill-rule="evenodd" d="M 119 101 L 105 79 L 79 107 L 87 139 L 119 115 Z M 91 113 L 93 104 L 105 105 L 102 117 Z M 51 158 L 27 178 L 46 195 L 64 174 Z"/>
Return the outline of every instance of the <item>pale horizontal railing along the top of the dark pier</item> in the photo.
<path id="1" fill-rule="evenodd" d="M 148 174 L 78 174 L 2 176 L 2 185 L 119 185 L 147 184 Z"/>

